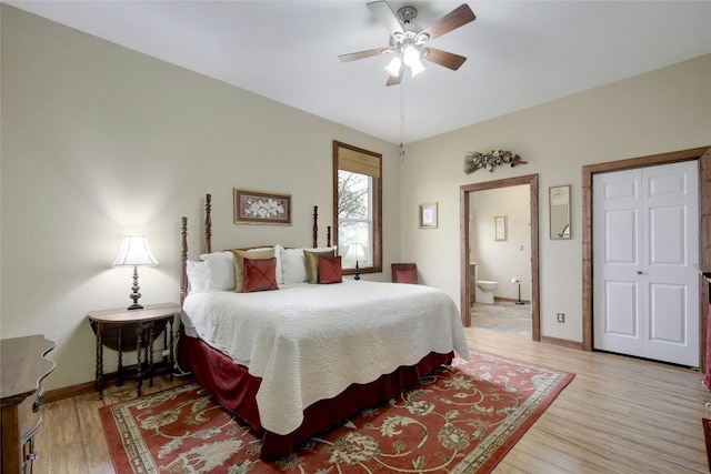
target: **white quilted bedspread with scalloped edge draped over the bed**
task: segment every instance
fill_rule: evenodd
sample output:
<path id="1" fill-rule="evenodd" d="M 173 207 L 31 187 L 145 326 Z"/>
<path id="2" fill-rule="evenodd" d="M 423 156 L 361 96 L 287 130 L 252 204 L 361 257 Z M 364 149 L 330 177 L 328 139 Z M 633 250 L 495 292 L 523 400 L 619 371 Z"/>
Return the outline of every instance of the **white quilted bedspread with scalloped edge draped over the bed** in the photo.
<path id="1" fill-rule="evenodd" d="M 239 311 L 236 311 L 239 307 Z M 191 294 L 183 324 L 262 377 L 262 426 L 289 434 L 303 410 L 434 351 L 469 359 L 459 311 L 424 285 L 347 280 L 257 293 Z"/>

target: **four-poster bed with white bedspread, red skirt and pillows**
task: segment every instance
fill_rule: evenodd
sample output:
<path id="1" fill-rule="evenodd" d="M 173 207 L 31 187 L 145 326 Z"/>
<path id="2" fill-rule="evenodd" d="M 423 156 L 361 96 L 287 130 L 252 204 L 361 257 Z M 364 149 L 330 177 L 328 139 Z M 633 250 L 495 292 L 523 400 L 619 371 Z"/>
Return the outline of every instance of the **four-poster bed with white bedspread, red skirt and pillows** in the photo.
<path id="1" fill-rule="evenodd" d="M 182 218 L 178 360 L 216 401 L 263 434 L 262 460 L 290 455 L 320 431 L 451 363 L 454 354 L 469 359 L 459 311 L 440 290 L 348 279 L 309 283 L 314 254 L 322 274 L 330 259 L 340 271 L 330 229 L 327 246 L 317 245 L 317 208 L 312 249 L 264 245 L 229 252 L 211 252 L 210 211 L 208 195 L 202 258 L 208 263 L 221 259 L 224 272 L 231 263 L 234 288 L 221 281 L 214 289 L 197 283 L 198 262 L 188 260 Z M 274 256 L 268 256 L 270 249 Z M 240 276 L 234 262 L 241 255 Z M 300 255 L 306 255 L 306 280 Z M 236 291 L 252 285 L 257 264 L 279 274 L 277 289 Z"/>

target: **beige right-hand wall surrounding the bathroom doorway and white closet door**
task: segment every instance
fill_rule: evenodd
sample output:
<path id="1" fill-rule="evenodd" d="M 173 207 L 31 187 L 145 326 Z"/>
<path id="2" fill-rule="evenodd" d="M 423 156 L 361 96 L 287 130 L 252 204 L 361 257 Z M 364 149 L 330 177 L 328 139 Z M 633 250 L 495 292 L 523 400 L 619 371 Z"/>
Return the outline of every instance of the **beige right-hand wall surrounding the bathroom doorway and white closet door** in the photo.
<path id="1" fill-rule="evenodd" d="M 460 186 L 538 173 L 541 333 L 582 341 L 581 167 L 704 145 L 711 145 L 711 56 L 413 143 L 402 165 L 402 258 L 459 301 Z M 464 174 L 468 152 L 492 149 L 519 153 L 528 164 Z M 551 241 L 548 189 L 568 183 L 572 240 Z M 418 232 L 408 210 L 429 201 L 439 201 L 439 229 Z M 565 324 L 555 322 L 557 312 Z"/>

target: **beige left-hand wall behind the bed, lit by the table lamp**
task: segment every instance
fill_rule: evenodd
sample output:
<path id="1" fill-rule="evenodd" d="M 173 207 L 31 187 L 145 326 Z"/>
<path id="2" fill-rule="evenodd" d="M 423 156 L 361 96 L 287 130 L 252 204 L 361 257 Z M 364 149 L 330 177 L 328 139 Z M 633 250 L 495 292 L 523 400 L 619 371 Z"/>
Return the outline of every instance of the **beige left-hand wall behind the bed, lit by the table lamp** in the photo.
<path id="1" fill-rule="evenodd" d="M 144 304 L 179 300 L 180 218 L 197 258 L 206 193 L 213 249 L 309 246 L 313 205 L 324 239 L 332 140 L 383 154 L 384 264 L 399 258 L 394 144 L 4 4 L 1 21 L 0 333 L 57 342 L 46 387 L 93 380 L 84 316 L 130 303 L 132 270 L 110 268 L 124 234 L 160 262 L 140 269 Z M 291 194 L 293 225 L 234 225 L 234 186 Z"/>

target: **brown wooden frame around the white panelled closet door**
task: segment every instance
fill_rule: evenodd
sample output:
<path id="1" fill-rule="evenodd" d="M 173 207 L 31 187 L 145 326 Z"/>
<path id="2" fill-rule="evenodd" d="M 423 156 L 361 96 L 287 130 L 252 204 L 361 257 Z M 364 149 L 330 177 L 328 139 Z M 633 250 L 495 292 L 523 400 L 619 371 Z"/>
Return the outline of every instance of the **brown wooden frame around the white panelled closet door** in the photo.
<path id="1" fill-rule="evenodd" d="M 699 161 L 699 264 L 703 269 L 711 269 L 711 148 L 701 147 L 670 153 L 651 154 L 607 163 L 582 167 L 582 349 L 593 350 L 593 265 L 592 265 L 592 180 L 594 174 L 613 171 L 632 170 L 654 167 L 658 164 L 678 163 L 682 161 Z M 705 365 L 705 339 L 709 300 L 709 288 L 699 274 L 699 351 L 702 367 Z"/>

